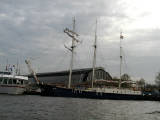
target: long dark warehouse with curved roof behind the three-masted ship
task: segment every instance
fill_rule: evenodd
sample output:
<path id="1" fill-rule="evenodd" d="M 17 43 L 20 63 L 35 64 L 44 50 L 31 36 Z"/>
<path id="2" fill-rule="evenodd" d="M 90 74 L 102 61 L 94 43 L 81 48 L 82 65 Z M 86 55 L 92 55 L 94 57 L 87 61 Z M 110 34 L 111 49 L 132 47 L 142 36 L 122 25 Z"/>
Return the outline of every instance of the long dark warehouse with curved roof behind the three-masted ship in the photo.
<path id="1" fill-rule="evenodd" d="M 72 71 L 72 85 L 83 83 L 91 83 L 92 68 L 75 69 Z M 68 71 L 37 73 L 38 79 L 46 84 L 62 84 L 67 85 L 69 79 Z M 95 80 L 112 80 L 111 75 L 102 67 L 95 68 Z M 29 80 L 34 81 L 33 76 L 29 75 Z"/>

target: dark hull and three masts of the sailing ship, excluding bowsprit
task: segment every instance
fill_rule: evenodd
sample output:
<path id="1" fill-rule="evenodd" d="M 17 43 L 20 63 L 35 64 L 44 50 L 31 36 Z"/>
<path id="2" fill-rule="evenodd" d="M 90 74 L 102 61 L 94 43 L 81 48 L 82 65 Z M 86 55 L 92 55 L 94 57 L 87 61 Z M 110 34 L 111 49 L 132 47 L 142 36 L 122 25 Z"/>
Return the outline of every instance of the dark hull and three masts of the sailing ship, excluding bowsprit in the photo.
<path id="1" fill-rule="evenodd" d="M 43 96 L 54 96 L 54 97 L 76 97 L 76 98 L 93 98 L 93 99 L 113 99 L 113 100 L 160 100 L 158 96 L 148 96 L 143 94 L 141 91 L 135 91 L 132 89 L 121 88 L 121 63 L 122 63 L 122 46 L 120 44 L 120 79 L 118 88 L 107 88 L 98 87 L 94 83 L 98 80 L 95 79 L 95 65 L 96 65 L 96 49 L 97 49 L 97 21 L 95 29 L 95 41 L 94 41 L 94 56 L 93 56 L 93 72 L 90 88 L 71 88 L 72 79 L 72 68 L 73 68 L 73 52 L 75 48 L 75 42 L 78 42 L 75 33 L 75 19 L 73 20 L 73 30 L 65 29 L 65 33 L 72 38 L 71 48 L 67 48 L 71 51 L 71 63 L 70 63 L 70 74 L 67 87 L 58 87 L 52 85 L 41 85 L 41 95 Z M 120 42 L 123 39 L 120 34 Z M 103 81 L 103 80 L 102 80 Z"/>

